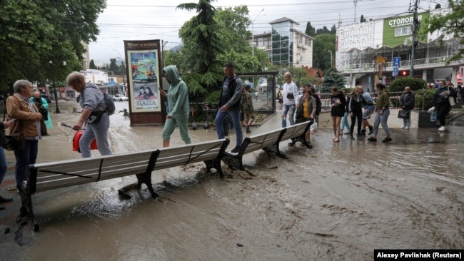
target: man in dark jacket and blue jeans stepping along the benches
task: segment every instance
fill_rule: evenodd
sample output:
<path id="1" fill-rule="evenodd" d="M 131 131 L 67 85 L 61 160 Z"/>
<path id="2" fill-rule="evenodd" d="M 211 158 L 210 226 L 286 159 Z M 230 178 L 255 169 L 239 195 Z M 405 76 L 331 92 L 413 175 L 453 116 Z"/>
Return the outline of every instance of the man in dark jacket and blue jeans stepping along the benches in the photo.
<path id="1" fill-rule="evenodd" d="M 233 121 L 233 128 L 236 131 L 236 147 L 231 150 L 231 153 L 238 153 L 242 145 L 243 132 L 240 126 L 240 100 L 243 91 L 243 83 L 241 78 L 236 76 L 233 63 L 228 62 L 223 66 L 224 78 L 221 101 L 219 101 L 218 114 L 216 114 L 216 131 L 218 138 L 224 138 L 223 121 L 227 116 L 231 116 Z"/>

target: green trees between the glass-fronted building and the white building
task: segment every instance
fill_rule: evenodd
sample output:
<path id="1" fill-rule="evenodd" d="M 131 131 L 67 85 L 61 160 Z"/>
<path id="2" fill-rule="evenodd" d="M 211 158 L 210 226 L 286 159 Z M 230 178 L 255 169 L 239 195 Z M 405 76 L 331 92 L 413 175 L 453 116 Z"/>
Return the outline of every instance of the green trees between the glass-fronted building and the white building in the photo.
<path id="1" fill-rule="evenodd" d="M 313 41 L 313 67 L 326 71 L 331 68 L 332 59 L 335 59 L 335 34 L 318 34 Z"/>

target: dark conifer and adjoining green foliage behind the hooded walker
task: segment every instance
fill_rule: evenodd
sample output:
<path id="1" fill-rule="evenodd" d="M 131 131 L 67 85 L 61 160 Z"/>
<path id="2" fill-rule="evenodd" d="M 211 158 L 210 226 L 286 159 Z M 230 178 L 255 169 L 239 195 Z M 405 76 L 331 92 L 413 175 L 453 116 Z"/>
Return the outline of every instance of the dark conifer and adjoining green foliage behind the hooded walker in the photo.
<path id="1" fill-rule="evenodd" d="M 164 64 L 175 64 L 179 72 L 184 73 L 182 79 L 187 83 L 191 101 L 218 103 L 224 77 L 223 63 L 233 61 L 236 73 L 263 71 L 268 56 L 259 48 L 253 50 L 248 42 L 251 32 L 247 28 L 251 20 L 246 6 L 214 9 L 209 2 L 201 0 L 198 4 L 178 6 L 188 10 L 196 9 L 198 15 L 183 24 L 179 32 L 183 48 L 180 53 L 166 52 Z M 203 17 L 206 14 L 208 17 Z M 213 21 L 210 21 L 210 14 Z M 214 39 L 198 37 L 198 33 L 209 29 Z"/>

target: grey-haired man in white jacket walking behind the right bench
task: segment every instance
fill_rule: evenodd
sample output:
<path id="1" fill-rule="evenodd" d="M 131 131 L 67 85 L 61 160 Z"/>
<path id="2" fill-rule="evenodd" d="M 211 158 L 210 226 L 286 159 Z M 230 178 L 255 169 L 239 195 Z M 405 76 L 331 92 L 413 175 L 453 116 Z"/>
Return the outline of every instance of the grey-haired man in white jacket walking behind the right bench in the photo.
<path id="1" fill-rule="evenodd" d="M 296 108 L 300 107 L 298 97 L 298 86 L 292 81 L 292 75 L 289 72 L 283 74 L 286 83 L 283 85 L 283 112 L 282 112 L 282 128 L 287 126 L 287 113 L 290 125 L 295 124 L 294 116 Z"/>

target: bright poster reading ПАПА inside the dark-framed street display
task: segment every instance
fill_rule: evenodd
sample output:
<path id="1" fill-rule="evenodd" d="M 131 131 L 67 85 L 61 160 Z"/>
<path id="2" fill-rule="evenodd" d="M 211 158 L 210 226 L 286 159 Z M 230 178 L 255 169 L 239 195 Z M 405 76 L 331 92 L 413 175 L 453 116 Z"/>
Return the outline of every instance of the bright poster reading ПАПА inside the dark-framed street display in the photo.
<path id="1" fill-rule="evenodd" d="M 161 111 L 159 98 L 158 50 L 128 51 L 131 63 L 128 80 L 131 81 L 133 112 Z"/>

